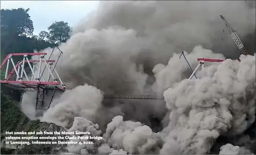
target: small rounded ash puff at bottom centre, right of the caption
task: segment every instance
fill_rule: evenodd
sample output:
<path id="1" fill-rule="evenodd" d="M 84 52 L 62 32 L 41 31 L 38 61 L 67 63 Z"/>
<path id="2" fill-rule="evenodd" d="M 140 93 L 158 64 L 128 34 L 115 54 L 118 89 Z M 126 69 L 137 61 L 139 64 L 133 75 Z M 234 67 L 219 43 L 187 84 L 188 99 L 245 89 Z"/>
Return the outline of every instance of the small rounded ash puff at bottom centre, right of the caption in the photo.
<path id="1" fill-rule="evenodd" d="M 103 137 L 112 148 L 130 154 L 158 154 L 162 145 L 159 133 L 141 122 L 123 121 L 122 116 L 112 119 Z"/>

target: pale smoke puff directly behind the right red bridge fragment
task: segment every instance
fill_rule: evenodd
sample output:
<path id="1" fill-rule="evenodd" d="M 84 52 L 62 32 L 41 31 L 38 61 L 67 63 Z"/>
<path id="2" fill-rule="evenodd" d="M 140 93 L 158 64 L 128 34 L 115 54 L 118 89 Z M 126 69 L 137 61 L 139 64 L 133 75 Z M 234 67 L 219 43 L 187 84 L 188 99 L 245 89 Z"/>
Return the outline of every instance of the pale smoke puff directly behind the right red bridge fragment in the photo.
<path id="1" fill-rule="evenodd" d="M 168 65 L 158 64 L 153 68 L 153 72 L 156 77 L 156 82 L 153 85 L 153 90 L 163 94 L 163 91 L 170 88 L 172 84 L 180 82 L 184 78 L 188 78 L 192 71 L 187 70 L 188 64 L 183 59 L 179 58 L 181 54 L 173 54 L 171 59 L 168 62 Z M 198 57 L 210 57 L 212 59 L 225 59 L 222 54 L 214 54 L 211 50 L 203 49 L 202 46 L 196 46 L 192 53 L 187 54 L 184 52 L 187 61 L 192 68 L 195 68 L 198 65 Z M 183 55 L 182 55 L 183 56 Z M 209 65 L 218 65 L 216 63 L 206 63 L 206 66 Z"/>

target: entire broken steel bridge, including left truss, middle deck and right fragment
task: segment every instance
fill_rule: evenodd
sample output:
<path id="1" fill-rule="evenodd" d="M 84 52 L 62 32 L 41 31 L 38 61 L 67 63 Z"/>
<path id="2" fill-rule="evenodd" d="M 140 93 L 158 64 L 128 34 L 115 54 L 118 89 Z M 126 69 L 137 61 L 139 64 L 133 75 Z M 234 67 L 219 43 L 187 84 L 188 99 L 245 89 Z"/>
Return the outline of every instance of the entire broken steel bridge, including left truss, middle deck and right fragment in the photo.
<path id="1" fill-rule="evenodd" d="M 59 49 L 58 47 L 56 48 Z M 52 53 L 56 48 L 53 48 Z M 48 109 L 53 101 L 55 93 L 58 91 L 64 92 L 66 90 L 66 86 L 62 83 L 61 77 L 55 68 L 62 55 L 62 51 L 59 49 L 59 57 L 57 60 L 50 59 L 52 53 L 49 55 L 48 60 L 46 60 L 47 53 L 15 53 L 7 55 L 0 66 L 0 69 L 5 73 L 4 80 L 0 80 L 1 85 L 19 91 L 36 91 L 36 109 Z M 27 57 L 28 55 L 35 55 L 38 57 L 38 60 L 29 60 Z M 23 60 L 19 60 L 15 65 L 12 59 L 13 56 L 23 56 Z M 193 71 L 184 52 L 182 52 L 180 57 L 182 56 L 193 72 L 189 79 L 193 76 L 197 78 L 195 72 L 199 66 L 202 66 L 202 69 L 204 68 L 204 62 L 224 61 L 219 59 L 198 58 L 197 61 L 199 61 L 199 64 Z M 27 64 L 25 65 L 25 63 Z M 9 71 L 10 66 L 12 66 L 11 71 Z M 30 70 L 27 71 L 25 66 L 29 66 L 27 68 Z M 46 96 L 48 96 L 48 99 L 46 99 Z M 164 100 L 163 96 L 137 94 L 104 94 L 104 99 Z M 47 107 L 44 105 L 46 102 L 48 103 Z"/>

